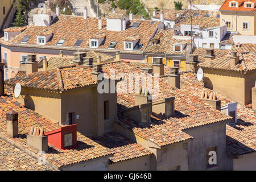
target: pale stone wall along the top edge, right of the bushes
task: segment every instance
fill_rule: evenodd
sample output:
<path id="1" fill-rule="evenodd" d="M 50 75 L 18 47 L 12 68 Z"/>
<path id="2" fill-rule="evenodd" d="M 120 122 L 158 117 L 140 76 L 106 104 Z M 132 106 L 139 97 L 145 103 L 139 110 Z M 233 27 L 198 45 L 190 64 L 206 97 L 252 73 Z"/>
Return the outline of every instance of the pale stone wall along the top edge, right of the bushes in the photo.
<path id="1" fill-rule="evenodd" d="M 181 1 L 183 4 L 183 9 L 188 9 L 189 1 L 187 0 L 176 0 Z M 159 9 L 175 9 L 174 0 L 141 0 L 148 9 L 154 9 L 158 7 Z M 193 5 L 222 5 L 224 0 L 194 0 Z"/>

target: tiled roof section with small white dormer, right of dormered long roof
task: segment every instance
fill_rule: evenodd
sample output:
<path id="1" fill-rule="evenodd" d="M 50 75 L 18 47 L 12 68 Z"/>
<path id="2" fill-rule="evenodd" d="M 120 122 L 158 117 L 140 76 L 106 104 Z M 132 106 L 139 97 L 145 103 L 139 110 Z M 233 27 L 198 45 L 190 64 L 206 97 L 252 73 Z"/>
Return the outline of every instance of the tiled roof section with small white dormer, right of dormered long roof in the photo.
<path id="1" fill-rule="evenodd" d="M 155 36 L 148 43 L 145 52 L 151 53 L 167 53 L 171 55 L 186 55 L 191 39 L 184 39 L 183 36 L 174 36 L 172 30 L 158 30 Z M 155 39 L 159 39 L 159 42 L 155 45 L 152 44 Z M 174 44 L 186 44 L 183 51 L 174 51 Z"/>

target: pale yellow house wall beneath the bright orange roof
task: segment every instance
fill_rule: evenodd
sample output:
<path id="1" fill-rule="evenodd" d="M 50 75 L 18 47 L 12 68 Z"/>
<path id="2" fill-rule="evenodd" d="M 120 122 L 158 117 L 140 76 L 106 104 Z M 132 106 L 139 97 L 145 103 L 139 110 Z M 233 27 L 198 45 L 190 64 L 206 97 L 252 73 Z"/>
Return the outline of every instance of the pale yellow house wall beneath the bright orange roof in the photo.
<path id="1" fill-rule="evenodd" d="M 220 26 L 225 25 L 222 19 L 232 22 L 232 29 L 228 29 L 229 31 L 238 31 L 242 35 L 256 35 L 256 11 L 254 13 L 237 12 L 237 16 L 235 11 L 220 11 Z M 249 31 L 242 30 L 242 22 L 249 23 Z"/>

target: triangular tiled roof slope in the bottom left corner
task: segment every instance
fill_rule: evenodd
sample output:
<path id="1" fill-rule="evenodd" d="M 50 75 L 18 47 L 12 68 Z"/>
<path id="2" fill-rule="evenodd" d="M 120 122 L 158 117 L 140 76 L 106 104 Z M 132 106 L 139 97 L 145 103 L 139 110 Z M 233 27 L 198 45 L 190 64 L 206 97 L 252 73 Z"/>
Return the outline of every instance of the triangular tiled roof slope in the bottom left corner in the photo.
<path id="1" fill-rule="evenodd" d="M 44 171 L 53 170 L 46 164 L 39 164 L 38 159 L 32 158 L 26 152 L 11 146 L 0 138 L 0 171 Z"/>

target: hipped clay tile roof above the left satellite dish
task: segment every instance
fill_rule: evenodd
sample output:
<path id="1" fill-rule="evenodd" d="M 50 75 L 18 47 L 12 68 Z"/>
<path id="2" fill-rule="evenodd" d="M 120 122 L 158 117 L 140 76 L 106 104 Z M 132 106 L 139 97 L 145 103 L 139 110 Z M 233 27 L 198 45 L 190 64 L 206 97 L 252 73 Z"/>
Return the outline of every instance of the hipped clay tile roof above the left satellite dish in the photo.
<path id="1" fill-rule="evenodd" d="M 76 66 L 48 69 L 6 80 L 7 85 L 15 85 L 18 82 L 28 88 L 56 91 L 96 84 L 91 78 L 90 69 Z"/>

